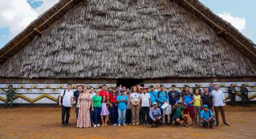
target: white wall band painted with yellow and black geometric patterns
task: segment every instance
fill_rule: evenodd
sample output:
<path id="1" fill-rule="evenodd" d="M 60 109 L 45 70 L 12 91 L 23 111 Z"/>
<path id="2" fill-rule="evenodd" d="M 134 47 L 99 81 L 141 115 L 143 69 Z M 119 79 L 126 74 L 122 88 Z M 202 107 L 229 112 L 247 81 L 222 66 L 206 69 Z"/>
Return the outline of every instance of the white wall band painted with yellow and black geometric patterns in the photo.
<path id="1" fill-rule="evenodd" d="M 249 100 L 256 100 L 256 82 L 220 82 L 217 83 L 219 88 L 224 92 L 225 99 L 230 101 L 230 97 L 227 93 L 227 87 L 230 84 L 236 85 L 236 90 L 238 90 L 236 100 L 241 101 L 240 86 L 245 84 L 249 90 Z M 156 83 L 145 84 L 146 87 L 150 85 L 155 86 Z M 195 84 L 203 87 L 207 87 L 210 83 L 162 83 L 166 91 L 170 91 L 171 85 L 176 85 L 178 91 L 182 91 L 184 85 L 194 87 Z M 6 100 L 6 95 L 4 94 L 7 91 L 9 84 L 0 84 L 0 103 L 4 103 Z M 56 103 L 57 97 L 67 84 L 12 84 L 16 91 L 16 96 L 14 97 L 14 103 Z M 72 84 L 72 91 L 76 91 L 76 85 Z M 102 84 L 82 84 L 84 86 L 94 87 L 99 89 Z M 108 87 L 115 87 L 116 84 L 106 84 Z"/>

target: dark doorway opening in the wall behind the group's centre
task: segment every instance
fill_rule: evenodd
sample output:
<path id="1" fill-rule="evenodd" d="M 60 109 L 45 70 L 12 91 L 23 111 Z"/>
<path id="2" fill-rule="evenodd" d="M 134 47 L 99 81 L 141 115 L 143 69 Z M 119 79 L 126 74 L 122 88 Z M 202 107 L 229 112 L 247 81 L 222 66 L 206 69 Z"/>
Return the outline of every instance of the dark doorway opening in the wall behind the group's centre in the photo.
<path id="1" fill-rule="evenodd" d="M 131 88 L 132 86 L 135 85 L 140 85 L 144 86 L 143 80 L 142 79 L 124 79 L 124 78 L 119 78 L 118 79 L 118 84 L 116 86 L 126 86 L 126 88 Z"/>

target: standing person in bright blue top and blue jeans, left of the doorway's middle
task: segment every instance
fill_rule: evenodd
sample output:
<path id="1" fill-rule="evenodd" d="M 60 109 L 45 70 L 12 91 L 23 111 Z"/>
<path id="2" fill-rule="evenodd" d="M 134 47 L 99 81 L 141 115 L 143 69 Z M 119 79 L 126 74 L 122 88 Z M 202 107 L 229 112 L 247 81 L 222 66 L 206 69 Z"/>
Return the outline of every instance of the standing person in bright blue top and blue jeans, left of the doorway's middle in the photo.
<path id="1" fill-rule="evenodd" d="M 121 126 L 121 118 L 122 125 L 126 126 L 126 104 L 128 101 L 128 97 L 124 95 L 125 90 L 121 90 L 121 94 L 118 96 L 118 126 Z"/>

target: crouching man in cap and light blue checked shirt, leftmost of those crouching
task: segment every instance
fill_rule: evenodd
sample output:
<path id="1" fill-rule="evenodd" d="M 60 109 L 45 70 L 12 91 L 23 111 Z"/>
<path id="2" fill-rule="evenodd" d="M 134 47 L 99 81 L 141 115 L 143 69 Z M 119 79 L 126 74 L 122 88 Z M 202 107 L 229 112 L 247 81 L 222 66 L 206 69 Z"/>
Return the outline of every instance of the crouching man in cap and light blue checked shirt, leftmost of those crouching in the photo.
<path id="1" fill-rule="evenodd" d="M 162 114 L 161 110 L 158 108 L 158 103 L 153 102 L 153 107 L 150 108 L 150 118 L 149 126 L 152 127 L 152 123 L 155 123 L 157 126 L 162 126 Z"/>

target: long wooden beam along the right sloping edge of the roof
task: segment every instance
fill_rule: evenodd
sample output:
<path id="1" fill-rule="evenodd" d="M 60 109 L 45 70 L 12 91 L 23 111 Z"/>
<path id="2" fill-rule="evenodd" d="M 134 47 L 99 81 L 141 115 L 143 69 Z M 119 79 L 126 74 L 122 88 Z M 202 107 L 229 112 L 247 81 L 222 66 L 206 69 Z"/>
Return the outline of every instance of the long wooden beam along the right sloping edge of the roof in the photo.
<path id="1" fill-rule="evenodd" d="M 204 15 L 204 13 L 202 13 L 200 10 L 198 10 L 196 7 L 193 6 L 193 4 L 191 4 L 190 2 L 188 2 L 187 0 L 182 0 L 184 1 L 188 6 L 191 7 L 191 9 L 195 10 L 196 12 L 198 12 L 202 17 L 204 17 L 207 21 L 209 21 L 210 23 L 214 24 L 218 29 L 220 29 L 220 31 L 224 30 L 224 28 L 220 25 L 218 25 L 217 23 L 215 23 L 214 21 L 210 20 L 206 15 Z M 256 58 L 256 54 L 251 51 L 249 48 L 247 48 L 243 43 L 241 43 L 238 39 L 236 39 L 236 37 L 234 37 L 230 32 L 228 31 L 224 31 L 225 34 L 229 35 L 233 40 L 235 40 L 236 42 L 239 43 L 239 45 L 241 45 L 242 47 L 244 47 L 247 51 L 249 51 L 253 56 L 255 56 Z"/>

